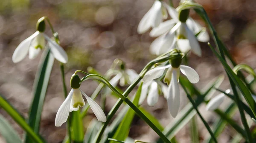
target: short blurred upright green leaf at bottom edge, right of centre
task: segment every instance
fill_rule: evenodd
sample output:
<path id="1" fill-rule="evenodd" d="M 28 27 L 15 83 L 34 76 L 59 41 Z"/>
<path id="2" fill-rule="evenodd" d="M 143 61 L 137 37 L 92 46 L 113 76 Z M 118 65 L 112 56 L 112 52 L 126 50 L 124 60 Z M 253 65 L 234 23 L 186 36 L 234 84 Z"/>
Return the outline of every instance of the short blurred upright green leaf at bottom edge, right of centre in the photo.
<path id="1" fill-rule="evenodd" d="M 190 135 L 192 143 L 199 143 L 198 127 L 197 127 L 196 116 L 190 121 Z"/>

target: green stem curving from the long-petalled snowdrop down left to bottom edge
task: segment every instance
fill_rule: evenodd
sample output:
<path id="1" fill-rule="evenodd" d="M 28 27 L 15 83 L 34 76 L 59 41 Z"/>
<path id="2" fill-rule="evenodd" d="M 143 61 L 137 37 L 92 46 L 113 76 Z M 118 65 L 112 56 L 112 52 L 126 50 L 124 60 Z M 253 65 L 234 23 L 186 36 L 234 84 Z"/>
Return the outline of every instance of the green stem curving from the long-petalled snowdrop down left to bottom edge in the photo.
<path id="1" fill-rule="evenodd" d="M 140 80 L 143 78 L 143 76 L 145 75 L 145 73 L 156 63 L 158 62 L 165 62 L 169 59 L 169 56 L 163 56 L 162 58 L 157 58 L 155 60 L 152 60 L 151 62 L 149 62 L 144 69 L 141 71 L 140 75 L 133 81 L 133 83 L 127 88 L 127 90 L 125 90 L 125 92 L 123 93 L 123 95 L 125 97 L 127 97 L 129 95 L 129 93 L 134 89 L 134 87 L 140 82 Z M 99 143 L 99 141 L 102 138 L 102 135 L 106 129 L 106 127 L 108 126 L 108 123 L 111 121 L 111 119 L 113 118 L 114 114 L 116 113 L 116 111 L 119 109 L 119 107 L 122 104 L 122 99 L 119 98 L 118 101 L 116 102 L 116 104 L 112 107 L 111 111 L 108 113 L 107 116 L 107 121 L 103 124 L 103 126 L 100 128 L 98 134 L 95 137 L 95 141 L 94 143 Z"/>

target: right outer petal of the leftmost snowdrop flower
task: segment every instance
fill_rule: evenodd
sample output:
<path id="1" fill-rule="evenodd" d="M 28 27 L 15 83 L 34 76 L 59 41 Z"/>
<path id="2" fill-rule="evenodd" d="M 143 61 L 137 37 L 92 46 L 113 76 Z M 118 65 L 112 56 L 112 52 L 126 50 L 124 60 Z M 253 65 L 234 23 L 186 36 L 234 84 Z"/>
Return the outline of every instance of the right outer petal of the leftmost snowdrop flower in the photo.
<path id="1" fill-rule="evenodd" d="M 63 48 L 61 48 L 61 46 L 58 45 L 55 41 L 52 41 L 52 39 L 50 39 L 47 35 L 44 35 L 44 37 L 49 44 L 49 48 L 54 58 L 57 59 L 59 62 L 66 64 L 68 57 L 67 53 L 63 50 Z"/>

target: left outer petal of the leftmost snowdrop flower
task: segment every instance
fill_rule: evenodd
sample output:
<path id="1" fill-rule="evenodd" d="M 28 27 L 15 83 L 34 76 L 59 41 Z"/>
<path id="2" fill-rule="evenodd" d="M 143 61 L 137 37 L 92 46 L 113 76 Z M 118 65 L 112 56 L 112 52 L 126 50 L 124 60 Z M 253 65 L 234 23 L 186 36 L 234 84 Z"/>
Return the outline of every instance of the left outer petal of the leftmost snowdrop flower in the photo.
<path id="1" fill-rule="evenodd" d="M 13 55 L 12 62 L 17 63 L 23 60 L 29 52 L 29 45 L 31 44 L 32 39 L 34 39 L 39 34 L 39 31 L 36 31 L 34 34 L 29 36 L 27 39 L 23 40 L 20 45 L 17 46 Z"/>

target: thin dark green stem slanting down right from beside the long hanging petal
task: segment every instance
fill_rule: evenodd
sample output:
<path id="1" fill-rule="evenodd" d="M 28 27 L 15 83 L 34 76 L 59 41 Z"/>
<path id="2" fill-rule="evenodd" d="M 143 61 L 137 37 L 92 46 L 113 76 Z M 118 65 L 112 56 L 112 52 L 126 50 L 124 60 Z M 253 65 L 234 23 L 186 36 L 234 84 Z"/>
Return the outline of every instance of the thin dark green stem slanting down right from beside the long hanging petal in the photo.
<path id="1" fill-rule="evenodd" d="M 187 97 L 189 98 L 189 101 L 192 103 L 192 106 L 194 107 L 194 109 L 196 110 L 196 112 L 198 113 L 198 116 L 201 118 L 201 120 L 204 123 L 204 126 L 206 127 L 206 129 L 208 130 L 208 132 L 210 133 L 210 135 L 212 136 L 212 139 L 214 140 L 215 143 L 218 143 L 216 137 L 214 136 L 212 129 L 210 128 L 209 124 L 204 120 L 203 116 L 201 115 L 201 113 L 199 112 L 197 105 L 195 104 L 195 101 L 192 99 L 192 97 L 189 95 L 188 91 L 186 90 L 186 87 L 180 83 L 180 85 L 183 87 L 183 90 L 185 91 Z"/>

